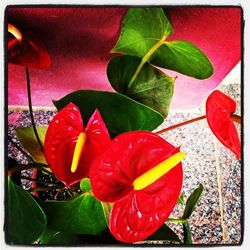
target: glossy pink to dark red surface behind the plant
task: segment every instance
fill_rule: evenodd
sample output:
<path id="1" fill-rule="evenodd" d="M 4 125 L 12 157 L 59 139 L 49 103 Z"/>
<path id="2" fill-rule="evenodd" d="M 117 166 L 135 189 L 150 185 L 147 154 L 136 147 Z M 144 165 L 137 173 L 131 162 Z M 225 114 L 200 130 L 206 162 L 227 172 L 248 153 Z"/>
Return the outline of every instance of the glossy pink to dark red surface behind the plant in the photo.
<path id="1" fill-rule="evenodd" d="M 52 66 L 30 71 L 34 106 L 53 106 L 78 89 L 112 91 L 106 77 L 125 8 L 9 8 L 8 20 L 48 50 Z M 170 39 L 193 42 L 211 59 L 215 73 L 200 81 L 178 75 L 172 108 L 195 108 L 239 62 L 240 8 L 169 8 Z M 25 71 L 8 65 L 8 103 L 27 105 Z M 185 90 L 185 91 L 183 91 Z"/>

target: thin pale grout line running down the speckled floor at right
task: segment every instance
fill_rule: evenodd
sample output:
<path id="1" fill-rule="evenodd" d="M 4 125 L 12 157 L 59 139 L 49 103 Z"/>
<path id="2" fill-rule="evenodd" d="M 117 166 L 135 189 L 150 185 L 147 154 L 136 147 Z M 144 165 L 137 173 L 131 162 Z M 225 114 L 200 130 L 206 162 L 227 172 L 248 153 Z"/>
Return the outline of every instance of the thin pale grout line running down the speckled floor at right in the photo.
<path id="1" fill-rule="evenodd" d="M 221 169 L 219 162 L 219 152 L 218 152 L 218 141 L 217 138 L 213 135 L 214 140 L 214 154 L 215 154 L 215 166 L 216 166 L 216 179 L 219 193 L 219 207 L 220 207 L 220 223 L 222 230 L 222 240 L 224 244 L 227 244 L 227 230 L 224 223 L 224 207 L 223 207 L 223 198 L 222 198 L 222 180 L 221 180 Z"/>

